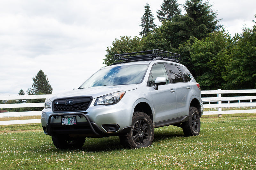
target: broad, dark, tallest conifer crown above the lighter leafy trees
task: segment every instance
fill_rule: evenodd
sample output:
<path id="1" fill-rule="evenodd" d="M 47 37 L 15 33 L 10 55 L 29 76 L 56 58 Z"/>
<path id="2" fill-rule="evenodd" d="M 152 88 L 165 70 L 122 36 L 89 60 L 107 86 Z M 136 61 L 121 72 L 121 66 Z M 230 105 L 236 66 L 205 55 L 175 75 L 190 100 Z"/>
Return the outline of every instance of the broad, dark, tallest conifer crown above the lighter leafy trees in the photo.
<path id="1" fill-rule="evenodd" d="M 217 14 L 211 9 L 208 2 L 202 0 L 190 0 L 184 5 L 185 15 L 176 15 L 171 21 L 162 23 L 159 27 L 165 39 L 169 41 L 173 48 L 178 49 L 180 44 L 185 43 L 191 36 L 201 40 L 208 36 L 208 33 L 219 30 L 217 25 Z"/>

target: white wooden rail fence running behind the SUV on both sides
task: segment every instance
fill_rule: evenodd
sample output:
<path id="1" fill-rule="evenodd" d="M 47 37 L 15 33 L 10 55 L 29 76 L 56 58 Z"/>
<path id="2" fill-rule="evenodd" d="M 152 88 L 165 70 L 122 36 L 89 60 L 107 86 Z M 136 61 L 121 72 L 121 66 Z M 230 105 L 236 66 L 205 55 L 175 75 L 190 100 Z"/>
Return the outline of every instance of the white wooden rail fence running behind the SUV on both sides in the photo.
<path id="1" fill-rule="evenodd" d="M 222 94 L 243 94 L 236 97 L 222 97 Z M 253 93 L 254 96 L 247 96 L 245 94 Z M 214 94 L 216 97 L 202 97 L 204 108 L 218 108 L 217 111 L 204 111 L 203 115 L 222 115 L 222 114 L 235 114 L 235 113 L 256 113 L 256 89 L 255 90 L 209 90 L 201 91 L 202 96 L 205 94 Z M 45 99 L 51 95 L 24 95 L 24 96 L 2 96 L 0 100 L 27 100 L 27 99 Z M 0 104 L 0 109 L 3 108 L 20 108 L 20 107 L 44 107 L 44 103 L 18 103 L 18 104 Z M 225 107 L 242 107 L 241 110 L 225 110 Z M 243 107 L 250 107 L 251 109 L 243 109 Z M 35 116 L 41 115 L 42 111 L 32 112 L 5 112 L 0 113 L 2 117 L 20 117 L 20 116 Z M 8 124 L 28 124 L 40 123 L 40 119 L 29 120 L 15 120 L 15 121 L 0 121 L 0 125 Z"/>

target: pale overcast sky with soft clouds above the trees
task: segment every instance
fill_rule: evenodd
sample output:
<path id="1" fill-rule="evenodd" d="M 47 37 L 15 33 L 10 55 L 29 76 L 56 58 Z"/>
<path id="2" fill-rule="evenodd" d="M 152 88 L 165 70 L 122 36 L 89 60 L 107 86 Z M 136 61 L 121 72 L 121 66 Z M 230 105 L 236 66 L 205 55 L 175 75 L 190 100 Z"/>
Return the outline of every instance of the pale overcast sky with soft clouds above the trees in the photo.
<path id="1" fill-rule="evenodd" d="M 0 0 L 0 95 L 26 92 L 39 70 L 53 93 L 78 88 L 104 66 L 115 38 L 139 36 L 147 2 L 160 25 L 163 0 Z M 232 36 L 254 25 L 255 0 L 209 2 Z"/>

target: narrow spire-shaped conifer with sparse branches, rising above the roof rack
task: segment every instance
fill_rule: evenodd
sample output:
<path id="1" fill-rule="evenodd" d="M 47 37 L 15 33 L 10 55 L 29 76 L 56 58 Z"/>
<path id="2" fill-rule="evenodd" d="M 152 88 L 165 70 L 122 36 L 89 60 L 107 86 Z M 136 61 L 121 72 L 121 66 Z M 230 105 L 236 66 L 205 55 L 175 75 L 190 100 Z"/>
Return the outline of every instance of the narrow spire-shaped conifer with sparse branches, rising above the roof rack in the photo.
<path id="1" fill-rule="evenodd" d="M 147 3 L 144 8 L 145 13 L 144 13 L 143 17 L 141 18 L 140 27 L 141 27 L 142 31 L 140 32 L 140 35 L 142 37 L 146 37 L 148 35 L 148 33 L 156 27 L 156 24 L 154 23 L 155 18 L 153 18 L 153 14 L 149 8 L 150 8 L 150 6 Z"/>

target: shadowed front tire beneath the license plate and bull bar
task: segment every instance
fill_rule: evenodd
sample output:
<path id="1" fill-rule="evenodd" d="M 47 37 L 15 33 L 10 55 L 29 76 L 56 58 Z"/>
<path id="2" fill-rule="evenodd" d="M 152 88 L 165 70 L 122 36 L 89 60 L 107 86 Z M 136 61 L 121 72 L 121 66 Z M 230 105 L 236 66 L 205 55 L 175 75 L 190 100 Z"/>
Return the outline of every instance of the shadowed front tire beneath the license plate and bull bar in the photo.
<path id="1" fill-rule="evenodd" d="M 52 136 L 52 142 L 57 149 L 81 149 L 85 142 L 85 137 L 68 138 Z"/>

